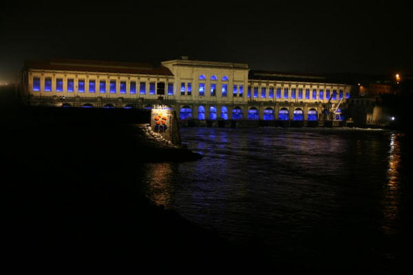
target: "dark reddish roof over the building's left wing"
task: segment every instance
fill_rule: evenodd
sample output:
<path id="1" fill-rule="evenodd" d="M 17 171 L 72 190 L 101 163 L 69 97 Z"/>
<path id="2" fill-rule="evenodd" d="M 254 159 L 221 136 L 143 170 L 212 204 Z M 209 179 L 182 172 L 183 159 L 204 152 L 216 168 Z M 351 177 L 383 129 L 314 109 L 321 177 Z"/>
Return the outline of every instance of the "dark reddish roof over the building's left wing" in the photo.
<path id="1" fill-rule="evenodd" d="M 173 76 L 167 67 L 153 67 L 151 64 L 147 63 L 123 63 L 52 58 L 47 61 L 25 61 L 24 65 L 26 69 L 52 69 L 59 71 Z"/>

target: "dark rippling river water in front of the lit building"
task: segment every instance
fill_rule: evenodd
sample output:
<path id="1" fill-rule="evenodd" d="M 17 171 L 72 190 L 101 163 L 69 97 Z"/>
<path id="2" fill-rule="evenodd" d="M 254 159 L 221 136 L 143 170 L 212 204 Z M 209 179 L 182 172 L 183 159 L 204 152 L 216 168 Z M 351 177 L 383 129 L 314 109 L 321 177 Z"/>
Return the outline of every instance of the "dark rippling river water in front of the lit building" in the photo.
<path id="1" fill-rule="evenodd" d="M 204 157 L 144 164 L 141 188 L 153 202 L 282 267 L 391 274 L 408 258 L 407 135 L 276 128 L 181 135 Z"/>

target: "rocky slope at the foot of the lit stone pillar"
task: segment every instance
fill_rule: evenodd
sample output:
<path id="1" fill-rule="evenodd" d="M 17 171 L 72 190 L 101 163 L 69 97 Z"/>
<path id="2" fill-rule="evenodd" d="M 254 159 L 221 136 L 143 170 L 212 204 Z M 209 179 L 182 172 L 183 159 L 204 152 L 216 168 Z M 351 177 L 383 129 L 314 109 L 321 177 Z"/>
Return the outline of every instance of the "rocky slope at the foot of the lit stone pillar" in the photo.
<path id="1" fill-rule="evenodd" d="M 124 126 L 126 131 L 133 131 L 136 142 L 136 160 L 140 162 L 184 162 L 201 159 L 185 145 L 175 145 L 160 133 L 153 131 L 149 124 Z M 126 133 L 127 134 L 127 133 Z"/>

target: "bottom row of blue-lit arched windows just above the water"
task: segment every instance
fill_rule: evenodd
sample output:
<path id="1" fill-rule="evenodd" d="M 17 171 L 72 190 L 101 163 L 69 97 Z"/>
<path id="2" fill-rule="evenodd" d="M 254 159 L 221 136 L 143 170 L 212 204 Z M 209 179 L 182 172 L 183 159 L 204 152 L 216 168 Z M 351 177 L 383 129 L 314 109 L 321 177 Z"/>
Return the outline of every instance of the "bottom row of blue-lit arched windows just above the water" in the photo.
<path id="1" fill-rule="evenodd" d="M 228 120 L 228 108 L 221 107 L 220 113 L 215 106 L 209 107 L 209 118 L 205 117 L 205 108 L 201 105 L 198 107 L 198 120 L 216 120 L 217 118 Z M 233 120 L 240 120 L 244 118 L 242 109 L 235 107 L 232 111 Z M 187 120 L 192 118 L 192 109 L 189 106 L 184 106 L 180 109 L 180 119 Z M 256 107 L 248 109 L 248 120 L 259 120 L 260 111 Z M 318 120 L 317 110 L 312 108 L 308 110 L 308 120 Z M 268 107 L 264 110 L 264 120 L 275 120 L 275 110 Z M 287 108 L 282 108 L 278 112 L 278 120 L 290 120 L 289 111 Z M 304 120 L 304 111 L 300 108 L 294 110 L 293 120 Z"/>

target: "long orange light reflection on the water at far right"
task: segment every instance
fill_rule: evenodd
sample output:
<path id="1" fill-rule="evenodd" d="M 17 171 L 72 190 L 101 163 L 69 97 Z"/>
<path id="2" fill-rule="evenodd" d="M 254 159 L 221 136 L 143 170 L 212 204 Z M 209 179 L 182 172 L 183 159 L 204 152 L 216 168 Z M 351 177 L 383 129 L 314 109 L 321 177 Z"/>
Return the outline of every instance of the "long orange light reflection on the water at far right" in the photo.
<path id="1" fill-rule="evenodd" d="M 396 223 L 400 219 L 400 136 L 400 133 L 392 133 L 390 135 L 388 170 L 386 171 L 387 182 L 383 188 L 383 199 L 381 200 L 383 211 L 381 230 L 388 235 L 394 234 L 397 228 Z"/>

